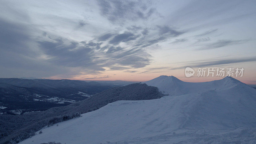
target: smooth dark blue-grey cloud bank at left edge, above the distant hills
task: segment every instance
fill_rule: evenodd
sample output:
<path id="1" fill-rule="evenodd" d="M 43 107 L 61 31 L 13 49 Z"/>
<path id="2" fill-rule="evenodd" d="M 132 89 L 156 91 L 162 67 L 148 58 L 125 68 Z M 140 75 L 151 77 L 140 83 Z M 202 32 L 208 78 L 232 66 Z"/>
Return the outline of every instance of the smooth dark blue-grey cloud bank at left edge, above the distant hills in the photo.
<path id="1" fill-rule="evenodd" d="M 0 71 L 2 77 L 47 77 L 56 74 L 73 75 L 72 70 L 44 59 L 30 35 L 31 27 L 0 18 Z"/>

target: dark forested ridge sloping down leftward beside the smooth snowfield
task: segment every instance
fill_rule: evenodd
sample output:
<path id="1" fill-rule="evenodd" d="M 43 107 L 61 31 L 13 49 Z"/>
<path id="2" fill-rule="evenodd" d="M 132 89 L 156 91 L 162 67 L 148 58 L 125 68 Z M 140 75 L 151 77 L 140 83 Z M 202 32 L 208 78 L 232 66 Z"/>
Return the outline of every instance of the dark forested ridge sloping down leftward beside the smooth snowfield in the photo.
<path id="1" fill-rule="evenodd" d="M 15 138 L 17 142 L 28 138 L 59 116 L 91 112 L 117 100 L 151 100 L 162 96 L 164 95 L 158 91 L 158 88 L 137 83 L 114 87 L 64 107 L 23 115 L 0 115 L 0 143 L 11 138 Z"/>

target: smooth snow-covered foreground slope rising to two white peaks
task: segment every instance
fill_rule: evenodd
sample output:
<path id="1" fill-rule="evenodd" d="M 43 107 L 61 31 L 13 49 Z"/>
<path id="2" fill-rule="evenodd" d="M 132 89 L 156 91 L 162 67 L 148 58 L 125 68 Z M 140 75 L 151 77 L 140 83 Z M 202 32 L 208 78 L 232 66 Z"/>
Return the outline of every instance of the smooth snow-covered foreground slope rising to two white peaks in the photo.
<path id="1" fill-rule="evenodd" d="M 250 86 L 231 77 L 187 83 L 160 76 L 146 84 L 171 96 L 109 103 L 20 143 L 256 143 L 256 90 Z"/>

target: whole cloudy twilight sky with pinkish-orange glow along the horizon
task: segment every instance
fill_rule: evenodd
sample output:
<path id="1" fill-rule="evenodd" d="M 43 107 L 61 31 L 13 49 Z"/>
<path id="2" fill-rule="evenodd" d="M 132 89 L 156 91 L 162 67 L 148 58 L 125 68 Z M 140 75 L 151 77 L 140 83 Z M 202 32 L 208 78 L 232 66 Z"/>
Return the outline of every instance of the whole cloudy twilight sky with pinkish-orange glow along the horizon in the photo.
<path id="1" fill-rule="evenodd" d="M 256 1 L 0 2 L 0 77 L 187 82 L 185 68 L 244 68 L 256 84 Z"/>

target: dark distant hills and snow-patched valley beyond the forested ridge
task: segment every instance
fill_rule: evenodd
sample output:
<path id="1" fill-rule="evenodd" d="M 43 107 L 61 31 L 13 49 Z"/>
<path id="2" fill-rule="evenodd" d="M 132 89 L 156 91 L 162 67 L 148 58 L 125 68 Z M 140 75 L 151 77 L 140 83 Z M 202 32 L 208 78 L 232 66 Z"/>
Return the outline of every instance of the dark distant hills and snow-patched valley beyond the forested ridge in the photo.
<path id="1" fill-rule="evenodd" d="M 117 85 L 78 80 L 0 78 L 0 113 L 23 114 L 65 106 Z"/>

